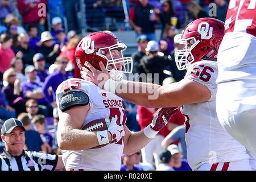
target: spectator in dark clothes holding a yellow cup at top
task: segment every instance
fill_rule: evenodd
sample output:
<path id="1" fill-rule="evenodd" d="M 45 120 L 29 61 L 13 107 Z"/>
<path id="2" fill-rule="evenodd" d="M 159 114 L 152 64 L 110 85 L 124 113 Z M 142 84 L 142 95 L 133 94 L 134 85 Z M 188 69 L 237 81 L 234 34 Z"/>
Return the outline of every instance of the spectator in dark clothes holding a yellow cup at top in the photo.
<path id="1" fill-rule="evenodd" d="M 179 17 L 174 11 L 171 0 L 164 0 L 162 3 L 162 12 L 160 12 L 160 22 L 162 23 L 162 33 L 166 24 L 172 24 L 176 28 L 180 28 Z"/>

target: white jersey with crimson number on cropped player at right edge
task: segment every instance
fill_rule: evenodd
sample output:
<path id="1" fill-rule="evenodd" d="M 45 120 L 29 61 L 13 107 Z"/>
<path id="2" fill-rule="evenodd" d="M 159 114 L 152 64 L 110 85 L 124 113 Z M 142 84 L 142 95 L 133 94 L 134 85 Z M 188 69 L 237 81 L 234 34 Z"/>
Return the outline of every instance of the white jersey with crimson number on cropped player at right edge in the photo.
<path id="1" fill-rule="evenodd" d="M 225 35 L 218 49 L 217 84 L 256 80 L 255 0 L 230 0 Z"/>

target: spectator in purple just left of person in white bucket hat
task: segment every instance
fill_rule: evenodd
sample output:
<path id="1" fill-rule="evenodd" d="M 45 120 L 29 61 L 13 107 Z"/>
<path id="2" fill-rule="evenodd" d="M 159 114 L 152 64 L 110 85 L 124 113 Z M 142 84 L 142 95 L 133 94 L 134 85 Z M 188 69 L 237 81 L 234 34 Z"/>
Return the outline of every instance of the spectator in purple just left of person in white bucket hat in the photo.
<path id="1" fill-rule="evenodd" d="M 30 46 L 31 49 L 34 49 L 35 52 L 38 52 L 41 38 L 38 36 L 38 27 L 35 24 L 30 24 L 30 26 L 28 26 L 28 35 L 30 36 L 28 46 Z"/>

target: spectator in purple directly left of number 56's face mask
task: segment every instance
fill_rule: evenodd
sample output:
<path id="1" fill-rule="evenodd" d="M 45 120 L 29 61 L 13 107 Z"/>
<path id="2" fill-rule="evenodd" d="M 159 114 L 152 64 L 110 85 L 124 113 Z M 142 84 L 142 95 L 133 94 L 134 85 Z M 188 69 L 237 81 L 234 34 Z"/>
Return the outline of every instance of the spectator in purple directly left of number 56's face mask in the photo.
<path id="1" fill-rule="evenodd" d="M 166 24 L 163 28 L 163 34 L 160 39 L 160 51 L 164 55 L 171 55 L 171 52 L 174 50 L 174 36 L 176 34 L 175 26 L 171 24 Z"/>

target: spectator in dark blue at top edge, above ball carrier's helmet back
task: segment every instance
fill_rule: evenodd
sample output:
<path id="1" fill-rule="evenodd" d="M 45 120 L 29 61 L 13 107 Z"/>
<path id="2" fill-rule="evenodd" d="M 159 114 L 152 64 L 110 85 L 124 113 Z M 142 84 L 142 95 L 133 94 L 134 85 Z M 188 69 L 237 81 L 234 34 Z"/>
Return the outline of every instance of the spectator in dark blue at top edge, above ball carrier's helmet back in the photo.
<path id="1" fill-rule="evenodd" d="M 77 11 L 76 6 L 79 3 L 77 0 L 62 0 L 64 7 L 64 15 L 67 18 L 68 31 L 69 30 L 78 30 L 78 20 L 77 20 Z"/>

